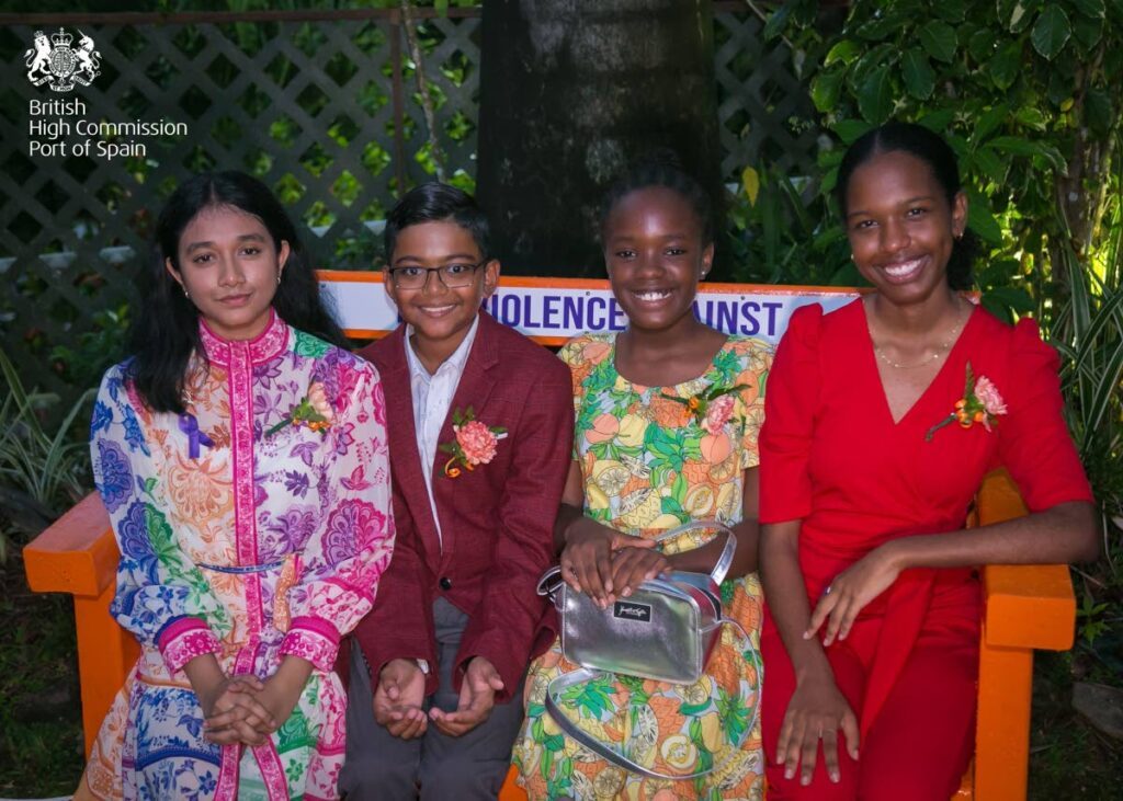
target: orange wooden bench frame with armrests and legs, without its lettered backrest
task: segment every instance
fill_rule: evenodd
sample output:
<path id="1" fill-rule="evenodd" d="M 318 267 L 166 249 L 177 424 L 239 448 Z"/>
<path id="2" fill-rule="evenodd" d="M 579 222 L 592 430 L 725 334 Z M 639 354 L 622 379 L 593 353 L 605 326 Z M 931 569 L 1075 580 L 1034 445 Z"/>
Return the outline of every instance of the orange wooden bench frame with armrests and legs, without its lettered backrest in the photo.
<path id="1" fill-rule="evenodd" d="M 987 477 L 977 508 L 982 524 L 1025 514 L 1004 471 Z M 109 616 L 117 558 L 109 515 L 97 495 L 24 549 L 33 590 L 74 596 L 86 754 L 139 653 L 136 641 Z M 955 798 L 1013 801 L 1024 799 L 1026 790 L 1033 650 L 1071 647 L 1076 599 L 1063 565 L 990 565 L 984 570 L 984 588 L 975 763 Z M 513 776 L 512 770 L 501 801 L 526 799 Z"/>

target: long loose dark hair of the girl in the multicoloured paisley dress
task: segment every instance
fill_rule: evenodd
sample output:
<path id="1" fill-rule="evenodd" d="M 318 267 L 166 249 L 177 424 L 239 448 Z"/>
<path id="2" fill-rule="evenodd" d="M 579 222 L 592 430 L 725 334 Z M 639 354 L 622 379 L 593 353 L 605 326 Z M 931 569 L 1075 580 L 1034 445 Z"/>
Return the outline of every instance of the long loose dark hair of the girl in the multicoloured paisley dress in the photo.
<path id="1" fill-rule="evenodd" d="M 199 338 L 199 310 L 165 269 L 180 269 L 180 238 L 204 209 L 229 206 L 256 217 L 280 250 L 289 242 L 289 260 L 273 296 L 273 309 L 290 325 L 332 344 L 347 339 L 320 297 L 320 285 L 300 245 L 292 220 L 270 188 L 237 171 L 204 173 L 185 181 L 156 221 L 152 258 L 140 276 L 139 313 L 130 331 L 134 355 L 128 377 L 154 412 L 183 414 L 183 381 L 192 353 L 207 358 Z"/>

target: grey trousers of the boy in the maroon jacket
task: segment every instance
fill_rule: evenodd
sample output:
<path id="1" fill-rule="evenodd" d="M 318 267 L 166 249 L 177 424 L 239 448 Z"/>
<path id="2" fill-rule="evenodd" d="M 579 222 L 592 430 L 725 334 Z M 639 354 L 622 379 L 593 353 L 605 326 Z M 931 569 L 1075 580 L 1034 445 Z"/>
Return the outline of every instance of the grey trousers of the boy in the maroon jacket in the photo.
<path id="1" fill-rule="evenodd" d="M 432 605 L 437 629 L 437 670 L 440 688 L 429 699 L 453 711 L 459 696 L 453 691 L 453 668 L 468 616 L 438 598 Z M 496 703 L 491 716 L 460 737 L 449 737 L 429 722 L 422 737 L 394 737 L 374 720 L 371 676 L 358 647 L 351 648 L 347 699 L 347 761 L 339 791 L 348 801 L 459 801 L 495 799 L 511 764 L 511 746 L 522 725 L 522 682 L 508 703 Z"/>

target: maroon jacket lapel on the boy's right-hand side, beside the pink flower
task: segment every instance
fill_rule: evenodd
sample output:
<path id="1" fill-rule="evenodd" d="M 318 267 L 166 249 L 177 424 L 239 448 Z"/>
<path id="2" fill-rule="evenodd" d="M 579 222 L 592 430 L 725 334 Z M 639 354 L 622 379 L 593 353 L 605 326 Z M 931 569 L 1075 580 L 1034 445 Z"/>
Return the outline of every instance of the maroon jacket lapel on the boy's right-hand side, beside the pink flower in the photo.
<path id="1" fill-rule="evenodd" d="M 440 439 L 438 441 L 441 444 L 456 439 L 456 432 L 453 431 L 453 413 L 456 409 L 465 412 L 471 406 L 475 411 L 476 420 L 486 425 L 496 424 L 495 421 L 487 420 L 484 408 L 495 386 L 495 376 L 492 368 L 499 363 L 499 351 L 495 348 L 494 334 L 494 329 L 497 326 L 499 323 L 487 312 L 480 312 L 480 328 L 476 331 L 476 339 L 472 343 L 468 360 L 464 365 L 464 375 L 460 376 L 460 383 L 456 387 L 456 394 L 453 396 L 453 404 L 448 407 L 448 415 L 445 417 L 445 424 L 440 429 Z M 432 492 L 438 510 L 451 508 L 456 504 L 457 480 L 445 476 L 445 462 L 448 461 L 448 454 L 442 452 L 440 445 L 438 445 L 437 458 L 432 469 Z M 447 528 L 442 528 L 441 537 L 444 542 L 441 570 L 445 571 L 456 546 L 455 527 L 448 526 Z"/>

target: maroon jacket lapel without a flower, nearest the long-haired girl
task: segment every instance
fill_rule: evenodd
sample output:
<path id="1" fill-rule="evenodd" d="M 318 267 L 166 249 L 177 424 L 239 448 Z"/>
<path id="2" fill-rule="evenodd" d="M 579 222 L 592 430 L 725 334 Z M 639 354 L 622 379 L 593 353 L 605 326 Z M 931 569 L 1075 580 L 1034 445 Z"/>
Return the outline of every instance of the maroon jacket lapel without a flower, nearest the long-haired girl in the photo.
<path id="1" fill-rule="evenodd" d="M 386 394 L 386 427 L 394 432 L 394 448 L 391 449 L 391 469 L 398 490 L 405 498 L 421 542 L 424 544 L 426 561 L 430 565 L 440 563 L 440 537 L 432 518 L 429 492 L 421 473 L 421 455 L 418 451 L 417 427 L 413 425 L 413 393 L 410 390 L 410 367 L 405 360 L 405 326 L 399 325 L 386 340 L 384 353 L 385 371 L 382 380 Z M 435 475 L 436 482 L 436 475 Z"/>

